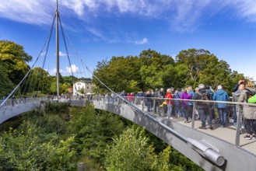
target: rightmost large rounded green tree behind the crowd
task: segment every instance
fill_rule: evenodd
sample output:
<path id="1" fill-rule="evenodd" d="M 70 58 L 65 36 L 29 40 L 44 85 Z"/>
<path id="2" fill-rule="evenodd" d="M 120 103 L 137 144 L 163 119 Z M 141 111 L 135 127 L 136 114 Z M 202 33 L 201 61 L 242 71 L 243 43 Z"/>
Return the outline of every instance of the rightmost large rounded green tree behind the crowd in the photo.
<path id="1" fill-rule="evenodd" d="M 219 61 L 219 59 L 204 49 L 188 49 L 181 51 L 177 57 L 177 65 L 186 65 L 187 75 L 184 79 L 187 80 L 185 85 L 198 86 L 199 83 L 212 86 L 216 89 L 218 85 L 222 85 L 232 92 L 233 86 L 237 84 L 234 82 L 233 73 L 230 65 L 226 61 Z M 235 76 L 235 80 L 239 80 L 240 75 Z M 185 86 L 184 85 L 184 86 Z"/>

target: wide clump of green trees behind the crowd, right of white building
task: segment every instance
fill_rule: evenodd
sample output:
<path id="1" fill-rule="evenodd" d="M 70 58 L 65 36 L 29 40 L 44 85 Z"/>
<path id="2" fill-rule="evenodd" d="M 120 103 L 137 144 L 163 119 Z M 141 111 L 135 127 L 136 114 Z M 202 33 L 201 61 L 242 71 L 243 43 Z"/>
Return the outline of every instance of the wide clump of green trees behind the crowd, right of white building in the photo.
<path id="1" fill-rule="evenodd" d="M 175 57 L 156 51 L 142 51 L 139 56 L 113 57 L 98 62 L 94 72 L 115 92 L 138 92 L 163 87 L 198 86 L 199 83 L 216 89 L 222 85 L 229 92 L 244 75 L 232 71 L 226 61 L 203 49 L 183 50 Z M 96 83 L 96 92 L 106 89 Z M 118 84 L 117 84 L 118 82 Z"/>

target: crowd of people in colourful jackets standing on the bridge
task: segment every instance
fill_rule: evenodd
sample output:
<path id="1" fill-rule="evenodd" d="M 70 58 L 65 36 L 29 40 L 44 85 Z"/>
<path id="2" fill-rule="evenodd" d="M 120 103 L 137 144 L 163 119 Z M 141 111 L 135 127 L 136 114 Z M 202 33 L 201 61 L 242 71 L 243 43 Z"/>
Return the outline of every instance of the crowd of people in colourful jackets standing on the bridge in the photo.
<path id="1" fill-rule="evenodd" d="M 251 97 L 251 93 L 248 93 L 250 91 L 251 90 L 245 88 L 244 80 L 240 80 L 234 87 L 233 96 L 231 98 L 223 89 L 223 86 L 217 86 L 216 91 L 214 91 L 211 86 L 204 86 L 203 84 L 199 84 L 194 90 L 192 86 L 186 86 L 183 89 L 174 89 L 171 87 L 167 89 L 166 93 L 163 88 L 161 88 L 155 89 L 155 91 L 138 92 L 137 94 L 133 92 L 121 92 L 120 96 L 125 96 L 128 102 L 133 104 L 141 103 L 138 99 L 139 97 L 144 97 L 142 99 L 147 106 L 148 112 L 154 111 L 156 113 L 161 103 L 165 103 L 167 106 L 167 118 L 183 117 L 185 123 L 190 122 L 193 116 L 193 105 L 195 103 L 195 119 L 201 120 L 202 126 L 199 127 L 201 129 L 206 129 L 206 121 L 211 130 L 214 129 L 212 123 L 215 122 L 219 122 L 220 127 L 226 127 L 228 123 L 227 113 L 232 111 L 234 127 L 237 127 L 237 120 L 239 119 L 241 121 L 240 125 L 247 131 L 245 138 L 251 139 L 256 138 L 256 107 L 225 103 L 231 101 L 231 99 L 233 102 L 256 103 L 256 95 Z M 157 98 L 155 102 L 153 98 Z M 186 99 L 201 101 L 192 102 Z M 214 103 L 214 100 L 223 101 L 223 103 Z M 240 117 L 238 118 L 237 116 Z"/>

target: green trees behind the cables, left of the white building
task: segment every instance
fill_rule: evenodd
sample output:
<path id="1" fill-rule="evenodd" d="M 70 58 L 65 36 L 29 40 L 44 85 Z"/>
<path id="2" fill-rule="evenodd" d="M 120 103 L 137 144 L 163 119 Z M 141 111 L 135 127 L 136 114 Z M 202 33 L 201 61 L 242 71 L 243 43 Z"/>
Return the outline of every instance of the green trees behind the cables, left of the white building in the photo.
<path id="1" fill-rule="evenodd" d="M 8 96 L 29 72 L 28 62 L 31 60 L 32 56 L 24 51 L 23 46 L 9 40 L 0 40 L 0 99 Z M 74 76 L 60 75 L 60 93 L 67 93 L 68 88 L 72 87 L 73 82 L 77 80 Z M 88 79 L 80 78 L 79 80 Z M 49 75 L 40 67 L 32 68 L 15 96 L 35 96 L 36 94 L 37 96 L 56 94 L 56 77 Z"/>

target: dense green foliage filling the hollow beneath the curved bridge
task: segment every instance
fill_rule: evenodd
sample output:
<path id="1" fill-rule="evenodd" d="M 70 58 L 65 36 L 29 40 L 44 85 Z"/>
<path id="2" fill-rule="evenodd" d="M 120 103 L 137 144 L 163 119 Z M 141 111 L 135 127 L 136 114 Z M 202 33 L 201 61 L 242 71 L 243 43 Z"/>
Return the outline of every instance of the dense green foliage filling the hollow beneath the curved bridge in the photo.
<path id="1" fill-rule="evenodd" d="M 79 162 L 86 170 L 201 170 L 142 127 L 89 103 L 48 103 L 45 113 L 16 122 L 0 127 L 1 170 L 76 170 Z"/>

